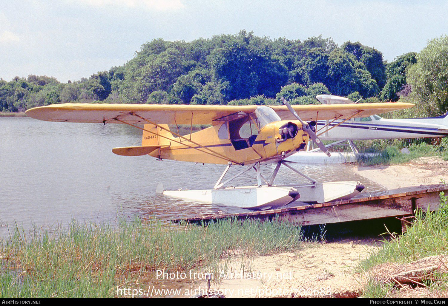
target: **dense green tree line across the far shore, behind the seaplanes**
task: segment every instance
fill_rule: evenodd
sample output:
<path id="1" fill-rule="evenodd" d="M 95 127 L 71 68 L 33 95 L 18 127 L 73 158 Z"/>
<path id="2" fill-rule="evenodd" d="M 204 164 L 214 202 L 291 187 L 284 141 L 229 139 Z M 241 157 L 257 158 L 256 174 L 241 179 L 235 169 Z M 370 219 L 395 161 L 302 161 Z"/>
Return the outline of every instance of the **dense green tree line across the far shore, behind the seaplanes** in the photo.
<path id="1" fill-rule="evenodd" d="M 35 75 L 0 79 L 0 110 L 67 102 L 277 104 L 280 97 L 310 104 L 317 103 L 316 95 L 332 93 L 363 102 L 431 97 L 426 112 L 433 115 L 448 107 L 447 46 L 445 35 L 419 54 L 387 63 L 375 48 L 359 42 L 338 47 L 322 36 L 271 40 L 242 30 L 191 43 L 159 38 L 144 43 L 123 66 L 79 81 Z"/>

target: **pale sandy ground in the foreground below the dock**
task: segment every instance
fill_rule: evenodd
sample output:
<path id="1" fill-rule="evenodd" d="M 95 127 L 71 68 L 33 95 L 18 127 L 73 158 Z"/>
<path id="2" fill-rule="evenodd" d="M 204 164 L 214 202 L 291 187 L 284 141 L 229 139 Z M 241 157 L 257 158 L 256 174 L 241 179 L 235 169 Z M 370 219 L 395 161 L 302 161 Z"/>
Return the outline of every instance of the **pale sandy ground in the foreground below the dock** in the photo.
<path id="1" fill-rule="evenodd" d="M 375 249 L 372 239 L 304 243 L 293 253 L 258 256 L 244 263 L 246 274 L 240 272 L 241 259 L 223 260 L 221 264 L 230 268 L 225 277 L 215 276 L 211 290 L 227 298 L 358 297 L 362 273 L 356 271 L 357 261 Z M 207 288 L 207 283 L 196 288 Z"/>

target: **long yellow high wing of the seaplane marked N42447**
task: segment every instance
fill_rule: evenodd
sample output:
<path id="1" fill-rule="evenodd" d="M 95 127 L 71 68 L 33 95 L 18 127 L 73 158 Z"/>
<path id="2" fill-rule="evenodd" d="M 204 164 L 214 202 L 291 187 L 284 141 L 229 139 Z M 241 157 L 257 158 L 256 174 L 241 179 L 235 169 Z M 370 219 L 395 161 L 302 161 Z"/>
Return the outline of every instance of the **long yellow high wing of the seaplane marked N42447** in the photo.
<path id="1" fill-rule="evenodd" d="M 414 106 L 410 103 L 362 103 L 332 105 L 293 105 L 302 118 L 344 119 L 351 116 L 366 117 L 392 110 Z M 256 105 L 159 105 L 159 104 L 88 104 L 65 103 L 35 107 L 26 115 L 44 121 L 85 123 L 166 123 L 166 124 L 213 124 L 221 118 L 238 113 L 252 113 Z M 284 120 L 295 119 L 286 106 L 270 106 Z M 145 120 L 146 119 L 146 120 Z"/>

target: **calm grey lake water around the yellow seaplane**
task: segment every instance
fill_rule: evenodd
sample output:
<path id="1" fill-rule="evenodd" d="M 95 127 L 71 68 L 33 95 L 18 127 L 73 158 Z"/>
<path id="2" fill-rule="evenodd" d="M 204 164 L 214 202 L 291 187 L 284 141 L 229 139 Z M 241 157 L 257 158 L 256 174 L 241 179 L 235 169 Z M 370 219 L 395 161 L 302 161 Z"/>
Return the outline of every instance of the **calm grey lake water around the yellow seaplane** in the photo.
<path id="1" fill-rule="evenodd" d="M 113 147 L 130 145 L 141 145 L 141 130 L 122 124 L 0 117 L 0 235 L 16 223 L 25 229 L 48 229 L 72 219 L 113 223 L 118 216 L 168 220 L 211 212 L 245 212 L 155 193 L 158 183 L 163 183 L 165 190 L 210 189 L 225 165 L 112 153 Z M 319 181 L 360 180 L 350 165 L 296 167 Z M 282 171 L 276 183 L 301 180 L 289 169 Z M 226 177 L 230 175 L 232 171 Z M 366 185 L 367 195 L 381 190 L 366 179 L 360 181 Z M 256 178 L 234 182 L 254 185 Z"/>

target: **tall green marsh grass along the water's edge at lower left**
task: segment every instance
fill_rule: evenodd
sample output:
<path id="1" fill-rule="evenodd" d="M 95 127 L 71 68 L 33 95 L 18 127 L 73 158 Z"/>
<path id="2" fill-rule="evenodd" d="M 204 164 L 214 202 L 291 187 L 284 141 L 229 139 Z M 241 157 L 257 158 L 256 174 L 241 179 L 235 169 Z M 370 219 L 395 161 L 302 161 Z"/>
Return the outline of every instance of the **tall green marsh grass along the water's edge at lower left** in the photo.
<path id="1" fill-rule="evenodd" d="M 222 220 L 168 226 L 139 220 L 110 225 L 72 222 L 53 232 L 18 226 L 0 244 L 1 297 L 114 297 L 155 270 L 182 272 L 219 259 L 293 251 L 301 229 L 286 222 Z"/>

